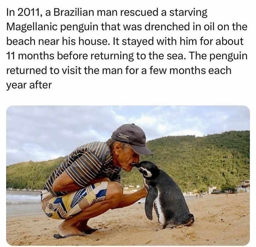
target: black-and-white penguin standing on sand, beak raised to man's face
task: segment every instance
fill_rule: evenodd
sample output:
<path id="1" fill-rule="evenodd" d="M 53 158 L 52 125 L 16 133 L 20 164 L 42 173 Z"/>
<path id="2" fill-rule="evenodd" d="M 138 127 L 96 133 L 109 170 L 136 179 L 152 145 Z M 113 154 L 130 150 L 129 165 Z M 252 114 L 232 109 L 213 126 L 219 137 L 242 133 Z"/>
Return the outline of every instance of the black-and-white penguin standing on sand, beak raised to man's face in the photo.
<path id="1" fill-rule="evenodd" d="M 154 206 L 162 229 L 167 225 L 191 225 L 195 221 L 193 214 L 189 213 L 180 188 L 169 175 L 150 161 L 142 161 L 134 166 L 143 174 L 144 184 L 148 190 L 145 202 L 147 218 L 153 219 Z"/>

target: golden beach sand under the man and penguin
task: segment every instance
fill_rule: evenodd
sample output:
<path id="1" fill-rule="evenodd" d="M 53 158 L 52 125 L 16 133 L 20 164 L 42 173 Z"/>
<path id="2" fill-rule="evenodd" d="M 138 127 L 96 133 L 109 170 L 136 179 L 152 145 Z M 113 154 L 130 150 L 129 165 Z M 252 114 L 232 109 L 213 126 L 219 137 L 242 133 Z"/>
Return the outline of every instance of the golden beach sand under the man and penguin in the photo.
<path id="1" fill-rule="evenodd" d="M 7 217 L 11 245 L 245 245 L 249 242 L 249 193 L 204 195 L 187 201 L 195 216 L 189 227 L 159 230 L 156 214 L 146 218 L 144 204 L 109 210 L 92 218 L 99 231 L 87 236 L 55 239 L 60 220 L 44 214 Z"/>

